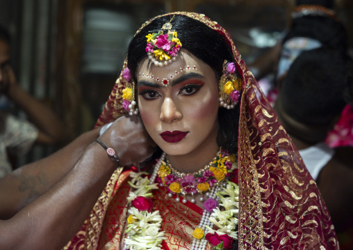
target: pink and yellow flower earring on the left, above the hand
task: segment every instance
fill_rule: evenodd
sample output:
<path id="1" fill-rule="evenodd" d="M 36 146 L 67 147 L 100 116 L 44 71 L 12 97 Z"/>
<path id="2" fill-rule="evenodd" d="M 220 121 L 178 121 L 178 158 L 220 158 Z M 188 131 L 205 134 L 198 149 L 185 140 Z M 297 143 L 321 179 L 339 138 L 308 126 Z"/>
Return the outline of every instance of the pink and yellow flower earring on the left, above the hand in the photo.
<path id="1" fill-rule="evenodd" d="M 122 72 L 122 77 L 126 80 L 127 82 L 127 87 L 122 90 L 122 99 L 124 99 L 124 102 L 122 103 L 122 107 L 126 111 L 129 112 L 130 116 L 137 115 L 138 114 L 138 108 L 136 106 L 136 101 L 135 101 L 135 84 L 131 78 L 131 72 L 129 68 L 126 68 Z"/>

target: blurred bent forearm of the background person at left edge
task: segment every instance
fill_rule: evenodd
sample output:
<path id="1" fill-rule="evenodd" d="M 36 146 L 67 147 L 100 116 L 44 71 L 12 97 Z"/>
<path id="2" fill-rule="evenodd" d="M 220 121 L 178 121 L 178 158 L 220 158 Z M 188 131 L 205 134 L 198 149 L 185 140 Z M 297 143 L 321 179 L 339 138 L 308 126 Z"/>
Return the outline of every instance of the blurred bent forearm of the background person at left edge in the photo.
<path id="1" fill-rule="evenodd" d="M 8 97 L 23 109 L 28 118 L 44 134 L 42 143 L 55 143 L 66 139 L 67 134 L 63 122 L 49 107 L 26 93 L 17 84 L 11 86 Z"/>

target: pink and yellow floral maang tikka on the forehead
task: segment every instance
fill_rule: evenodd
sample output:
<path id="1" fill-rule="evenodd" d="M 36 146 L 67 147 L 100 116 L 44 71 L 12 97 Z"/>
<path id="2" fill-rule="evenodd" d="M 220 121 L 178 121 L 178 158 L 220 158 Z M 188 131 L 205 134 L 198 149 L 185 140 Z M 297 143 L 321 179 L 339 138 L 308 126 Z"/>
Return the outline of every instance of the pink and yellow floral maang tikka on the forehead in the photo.
<path id="1" fill-rule="evenodd" d="M 172 17 L 172 19 L 174 16 Z M 147 38 L 146 52 L 148 58 L 154 65 L 164 66 L 172 63 L 177 59 L 181 42 L 178 39 L 178 33 L 172 30 L 172 19 L 163 24 L 162 29 L 159 31 L 151 31 Z M 164 33 L 164 32 L 167 33 Z"/>

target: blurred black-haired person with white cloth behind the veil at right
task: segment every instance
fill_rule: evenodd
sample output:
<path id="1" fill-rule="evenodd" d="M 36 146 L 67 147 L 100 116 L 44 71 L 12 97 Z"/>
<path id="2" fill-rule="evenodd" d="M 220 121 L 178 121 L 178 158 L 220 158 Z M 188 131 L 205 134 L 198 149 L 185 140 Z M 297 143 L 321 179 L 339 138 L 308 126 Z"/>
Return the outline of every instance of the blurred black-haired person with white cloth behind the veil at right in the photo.
<path id="1" fill-rule="evenodd" d="M 348 77 L 352 66 L 347 54 L 336 49 L 302 52 L 290 65 L 274 105 L 318 183 L 339 237 L 353 226 L 353 150 L 330 148 L 325 139 L 345 107 L 346 86 L 353 86 Z"/>

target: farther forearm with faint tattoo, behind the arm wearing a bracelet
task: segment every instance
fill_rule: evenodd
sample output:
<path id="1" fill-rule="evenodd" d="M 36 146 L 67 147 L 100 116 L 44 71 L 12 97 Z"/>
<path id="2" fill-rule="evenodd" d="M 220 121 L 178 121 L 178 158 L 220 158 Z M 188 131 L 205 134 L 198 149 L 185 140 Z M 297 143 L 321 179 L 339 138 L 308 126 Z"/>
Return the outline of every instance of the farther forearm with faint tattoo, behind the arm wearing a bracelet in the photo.
<path id="1" fill-rule="evenodd" d="M 85 132 L 65 148 L 22 166 L 0 179 L 0 219 L 10 219 L 25 205 L 47 192 L 72 169 L 84 150 L 97 139 L 99 129 Z"/>

